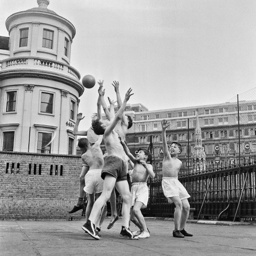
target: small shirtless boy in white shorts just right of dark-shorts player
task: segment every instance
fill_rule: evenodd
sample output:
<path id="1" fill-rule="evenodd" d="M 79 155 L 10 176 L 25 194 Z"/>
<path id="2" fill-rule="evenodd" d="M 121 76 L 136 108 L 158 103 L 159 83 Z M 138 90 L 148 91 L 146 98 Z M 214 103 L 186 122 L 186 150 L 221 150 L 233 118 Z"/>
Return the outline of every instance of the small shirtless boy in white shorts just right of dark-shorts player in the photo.
<path id="1" fill-rule="evenodd" d="M 120 141 L 124 147 L 124 151 L 126 155 L 134 163 L 133 174 L 132 174 L 132 187 L 131 187 L 132 204 L 131 204 L 130 220 L 140 230 L 132 233 L 138 238 L 147 238 L 150 235 L 140 209 L 141 208 L 144 209 L 147 206 L 148 187 L 146 182 L 147 182 L 148 176 L 150 176 L 151 178 L 155 177 L 155 173 L 153 172 L 152 166 L 146 163 L 147 161 L 150 160 L 151 153 L 146 149 L 139 148 L 135 158 L 131 154 L 124 140 L 120 138 Z"/>

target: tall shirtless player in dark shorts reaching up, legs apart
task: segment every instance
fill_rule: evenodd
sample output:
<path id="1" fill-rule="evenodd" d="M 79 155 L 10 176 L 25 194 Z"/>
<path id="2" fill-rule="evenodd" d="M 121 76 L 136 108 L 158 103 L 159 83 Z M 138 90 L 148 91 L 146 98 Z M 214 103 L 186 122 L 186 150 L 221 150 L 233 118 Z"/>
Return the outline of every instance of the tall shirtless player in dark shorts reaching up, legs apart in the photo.
<path id="1" fill-rule="evenodd" d="M 95 233 L 95 223 L 97 216 L 104 204 L 109 200 L 113 188 L 116 186 L 117 190 L 122 196 L 122 230 L 120 236 L 135 238 L 129 230 L 130 207 L 131 207 L 131 194 L 129 185 L 126 178 L 126 164 L 122 159 L 123 146 L 119 140 L 118 134 L 114 131 L 117 123 L 121 120 L 125 106 L 130 96 L 132 89 L 130 88 L 126 94 L 122 106 L 117 112 L 114 119 L 101 120 L 97 119 L 92 123 L 92 128 L 97 135 L 104 134 L 105 146 L 109 157 L 104 162 L 101 171 L 101 178 L 104 179 L 103 192 L 94 202 L 90 217 L 88 221 L 82 226 L 82 229 L 87 231 L 93 238 L 99 239 Z"/>

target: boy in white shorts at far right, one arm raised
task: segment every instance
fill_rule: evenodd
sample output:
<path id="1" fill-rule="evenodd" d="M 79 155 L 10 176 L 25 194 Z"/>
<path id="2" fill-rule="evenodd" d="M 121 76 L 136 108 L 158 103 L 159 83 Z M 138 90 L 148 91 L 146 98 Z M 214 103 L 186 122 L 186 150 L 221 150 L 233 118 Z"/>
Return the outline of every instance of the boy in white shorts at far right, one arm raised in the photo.
<path id="1" fill-rule="evenodd" d="M 181 153 L 181 144 L 172 142 L 170 152 L 166 141 L 166 128 L 170 125 L 164 119 L 162 122 L 162 138 L 163 138 L 163 180 L 162 187 L 168 202 L 175 203 L 174 211 L 174 231 L 173 236 L 183 238 L 184 236 L 192 236 L 185 231 L 184 227 L 189 215 L 190 205 L 188 199 L 190 195 L 184 186 L 178 181 L 178 173 L 182 162 L 177 158 Z"/>

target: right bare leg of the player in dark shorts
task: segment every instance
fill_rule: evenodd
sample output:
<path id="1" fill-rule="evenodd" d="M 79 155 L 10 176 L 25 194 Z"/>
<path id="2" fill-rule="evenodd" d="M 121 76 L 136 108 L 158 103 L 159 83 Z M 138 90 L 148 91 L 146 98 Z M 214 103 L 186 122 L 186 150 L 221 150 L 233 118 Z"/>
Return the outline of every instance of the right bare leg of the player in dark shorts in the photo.
<path id="1" fill-rule="evenodd" d="M 130 220 L 130 208 L 131 208 L 131 193 L 129 190 L 129 185 L 127 180 L 121 180 L 116 182 L 116 188 L 123 199 L 122 204 L 122 226 L 129 228 L 129 220 Z"/>

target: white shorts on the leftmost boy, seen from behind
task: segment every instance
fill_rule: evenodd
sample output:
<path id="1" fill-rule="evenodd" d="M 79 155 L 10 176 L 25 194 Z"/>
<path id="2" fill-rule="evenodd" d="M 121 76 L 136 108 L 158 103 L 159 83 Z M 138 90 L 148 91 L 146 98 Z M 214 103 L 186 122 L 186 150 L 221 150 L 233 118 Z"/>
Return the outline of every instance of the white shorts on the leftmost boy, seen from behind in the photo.
<path id="1" fill-rule="evenodd" d="M 85 174 L 85 187 L 83 190 L 88 193 L 101 193 L 103 191 L 104 180 L 101 178 L 101 169 L 89 170 Z"/>

